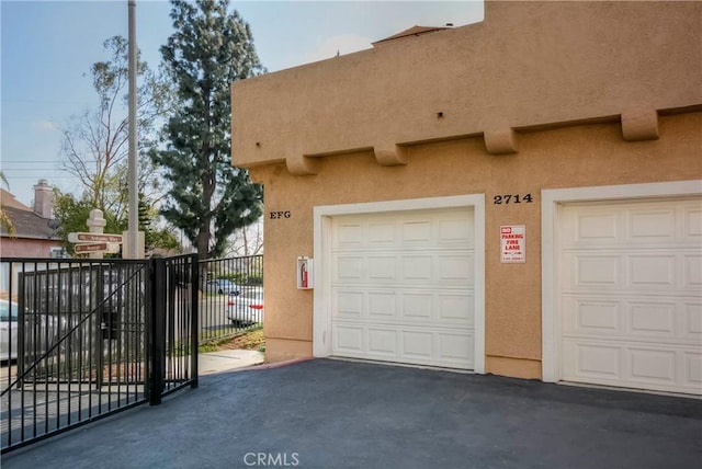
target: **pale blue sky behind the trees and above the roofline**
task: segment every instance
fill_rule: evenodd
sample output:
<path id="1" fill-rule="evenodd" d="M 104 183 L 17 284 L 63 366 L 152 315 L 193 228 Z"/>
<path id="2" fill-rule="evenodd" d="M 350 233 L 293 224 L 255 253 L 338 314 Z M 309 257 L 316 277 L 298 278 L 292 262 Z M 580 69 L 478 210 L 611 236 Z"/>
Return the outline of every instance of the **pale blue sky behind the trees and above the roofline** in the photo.
<path id="1" fill-rule="evenodd" d="M 137 46 L 152 69 L 172 33 L 170 4 L 137 0 Z M 483 20 L 482 1 L 233 1 L 251 26 L 270 72 L 371 47 L 415 24 L 461 26 Z M 61 131 L 93 108 L 90 66 L 102 43 L 127 36 L 127 0 L 0 1 L 0 169 L 30 204 L 37 180 L 78 193 L 60 171 Z"/>

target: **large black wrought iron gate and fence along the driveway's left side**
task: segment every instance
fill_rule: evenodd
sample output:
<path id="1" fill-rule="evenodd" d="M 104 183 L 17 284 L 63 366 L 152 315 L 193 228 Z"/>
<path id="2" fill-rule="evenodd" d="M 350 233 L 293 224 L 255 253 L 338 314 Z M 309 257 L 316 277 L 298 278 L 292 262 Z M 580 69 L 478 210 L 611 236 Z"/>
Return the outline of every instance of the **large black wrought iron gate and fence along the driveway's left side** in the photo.
<path id="1" fill-rule="evenodd" d="M 5 453 L 197 386 L 194 255 L 0 259 Z"/>

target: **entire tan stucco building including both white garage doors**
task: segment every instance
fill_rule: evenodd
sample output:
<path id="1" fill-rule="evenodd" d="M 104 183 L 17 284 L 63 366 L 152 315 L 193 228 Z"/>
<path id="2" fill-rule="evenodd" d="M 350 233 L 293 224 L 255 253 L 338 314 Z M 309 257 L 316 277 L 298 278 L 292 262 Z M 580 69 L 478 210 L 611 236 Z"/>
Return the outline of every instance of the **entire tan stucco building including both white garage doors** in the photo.
<path id="1" fill-rule="evenodd" d="M 268 361 L 702 393 L 702 3 L 488 1 L 233 108 Z"/>

